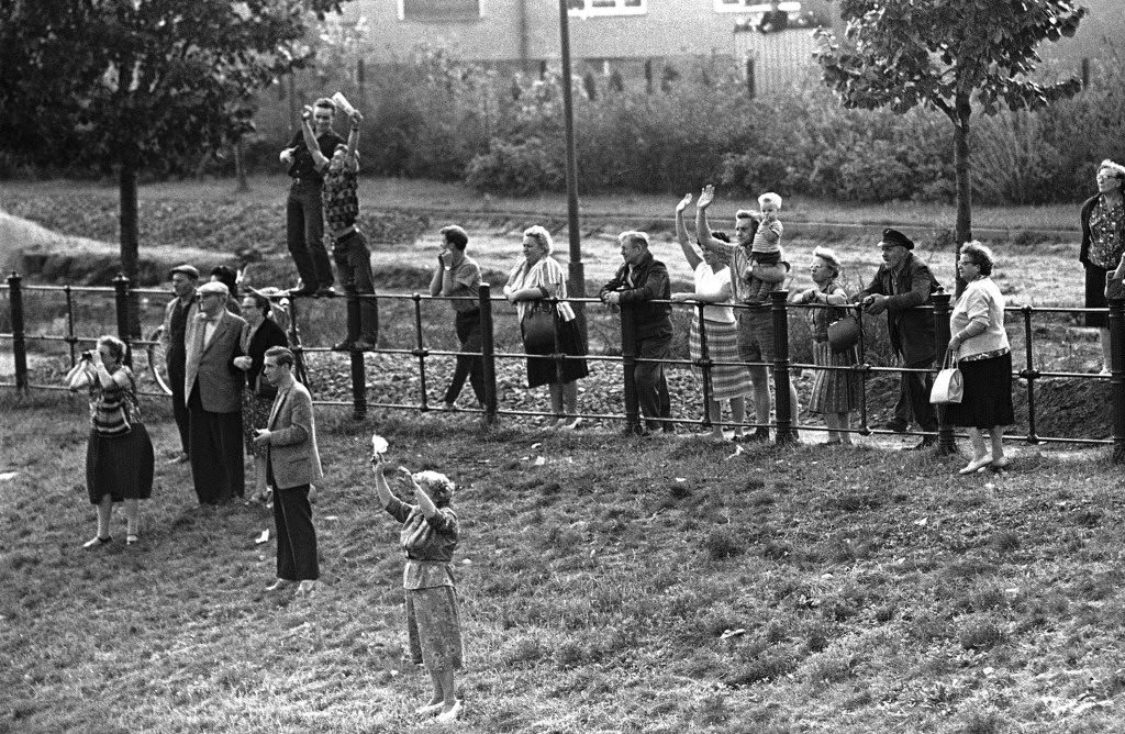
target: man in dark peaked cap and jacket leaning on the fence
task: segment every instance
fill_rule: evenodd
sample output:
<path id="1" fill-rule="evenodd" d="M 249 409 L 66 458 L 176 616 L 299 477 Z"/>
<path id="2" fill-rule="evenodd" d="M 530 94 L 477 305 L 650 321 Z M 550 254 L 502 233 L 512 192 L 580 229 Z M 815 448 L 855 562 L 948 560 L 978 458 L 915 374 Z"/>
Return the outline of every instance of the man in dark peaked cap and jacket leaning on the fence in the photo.
<path id="1" fill-rule="evenodd" d="M 856 296 L 856 303 L 871 315 L 886 312 L 886 323 L 891 333 L 891 347 L 902 358 L 909 369 L 929 369 L 934 366 L 934 314 L 917 306 L 933 304 L 930 297 L 942 286 L 934 278 L 925 262 L 914 257 L 914 242 L 898 230 L 883 230 L 879 243 L 883 251 L 883 265 L 864 290 Z M 915 421 L 926 432 L 937 432 L 937 417 L 929 402 L 933 377 L 928 373 L 902 373 L 900 403 L 910 405 Z M 901 419 L 901 415 L 897 415 Z M 892 424 L 897 423 L 892 421 Z M 906 426 L 900 427 L 906 430 Z M 934 436 L 925 437 L 909 450 L 924 449 L 937 442 Z"/>

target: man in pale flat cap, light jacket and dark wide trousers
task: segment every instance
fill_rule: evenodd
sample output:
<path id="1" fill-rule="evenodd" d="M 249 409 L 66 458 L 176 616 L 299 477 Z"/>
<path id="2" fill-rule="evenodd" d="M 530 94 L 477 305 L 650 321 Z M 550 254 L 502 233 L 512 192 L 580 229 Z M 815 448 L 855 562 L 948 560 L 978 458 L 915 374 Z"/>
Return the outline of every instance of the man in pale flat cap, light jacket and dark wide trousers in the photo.
<path id="1" fill-rule="evenodd" d="M 183 394 L 189 415 L 191 481 L 199 503 L 214 505 L 244 494 L 242 466 L 242 387 L 234 364 L 242 355 L 245 321 L 226 310 L 222 283 L 196 290 L 199 315 L 188 324 Z"/>

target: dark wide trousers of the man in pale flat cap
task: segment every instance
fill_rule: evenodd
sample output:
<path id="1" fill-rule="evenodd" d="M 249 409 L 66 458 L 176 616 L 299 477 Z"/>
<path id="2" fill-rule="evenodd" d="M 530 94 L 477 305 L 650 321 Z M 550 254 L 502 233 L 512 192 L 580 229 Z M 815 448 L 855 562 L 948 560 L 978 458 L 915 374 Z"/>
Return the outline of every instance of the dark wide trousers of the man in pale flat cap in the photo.
<path id="1" fill-rule="evenodd" d="M 191 481 L 199 504 L 228 502 L 245 494 L 242 466 L 242 411 L 212 413 L 199 400 L 199 386 L 188 399 Z"/>

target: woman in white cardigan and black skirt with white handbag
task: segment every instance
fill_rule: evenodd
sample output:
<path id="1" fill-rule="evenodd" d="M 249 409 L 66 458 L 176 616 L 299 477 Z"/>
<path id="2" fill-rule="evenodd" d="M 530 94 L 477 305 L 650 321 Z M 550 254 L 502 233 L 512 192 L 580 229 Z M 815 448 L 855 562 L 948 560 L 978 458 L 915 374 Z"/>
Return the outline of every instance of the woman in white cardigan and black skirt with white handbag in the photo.
<path id="1" fill-rule="evenodd" d="M 1008 466 L 1004 427 L 1015 422 L 1011 348 L 1004 330 L 1004 295 L 990 277 L 992 263 L 992 252 L 980 242 L 961 245 L 957 274 L 968 285 L 950 316 L 950 351 L 957 358 L 964 395 L 961 403 L 948 405 L 945 413 L 947 422 L 969 429 L 973 442 L 973 458 L 961 474 L 972 474 L 989 465 Z M 992 442 L 991 451 L 984 447 L 986 430 Z"/>

